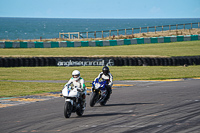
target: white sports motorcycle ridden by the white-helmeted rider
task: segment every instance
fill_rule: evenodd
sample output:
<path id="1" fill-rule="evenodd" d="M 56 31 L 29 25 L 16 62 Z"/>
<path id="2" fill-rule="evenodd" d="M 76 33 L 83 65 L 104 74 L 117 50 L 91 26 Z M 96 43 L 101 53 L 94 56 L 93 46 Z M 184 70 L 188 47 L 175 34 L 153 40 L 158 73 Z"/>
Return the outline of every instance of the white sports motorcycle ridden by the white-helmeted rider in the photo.
<path id="1" fill-rule="evenodd" d="M 78 116 L 82 116 L 85 110 L 85 105 L 83 105 L 83 98 L 81 95 L 81 89 L 76 86 L 71 88 L 64 87 L 62 90 L 62 96 L 65 98 L 64 105 L 64 116 L 69 118 L 71 113 L 75 113 Z M 85 103 L 86 104 L 86 103 Z"/>

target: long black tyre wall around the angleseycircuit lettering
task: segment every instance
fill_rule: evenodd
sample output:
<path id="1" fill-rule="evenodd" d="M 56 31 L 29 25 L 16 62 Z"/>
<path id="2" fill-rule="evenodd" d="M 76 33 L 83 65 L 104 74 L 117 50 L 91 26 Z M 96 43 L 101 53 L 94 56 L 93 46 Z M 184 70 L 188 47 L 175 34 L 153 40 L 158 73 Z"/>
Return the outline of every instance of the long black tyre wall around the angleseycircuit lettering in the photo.
<path id="1" fill-rule="evenodd" d="M 0 67 L 37 67 L 58 66 L 58 61 L 90 61 L 90 60 L 112 60 L 114 66 L 184 66 L 200 65 L 200 56 L 181 56 L 170 58 L 156 57 L 32 57 L 11 58 L 0 57 Z M 101 64 L 102 65 L 102 64 Z"/>

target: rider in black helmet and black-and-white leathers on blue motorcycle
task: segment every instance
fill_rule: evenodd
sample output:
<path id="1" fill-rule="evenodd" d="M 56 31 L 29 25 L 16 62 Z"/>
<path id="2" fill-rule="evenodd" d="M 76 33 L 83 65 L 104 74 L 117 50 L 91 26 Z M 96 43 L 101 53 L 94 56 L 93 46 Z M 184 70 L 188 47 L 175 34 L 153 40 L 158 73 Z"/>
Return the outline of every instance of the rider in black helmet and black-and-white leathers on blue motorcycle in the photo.
<path id="1" fill-rule="evenodd" d="M 113 85 L 113 76 L 110 73 L 109 67 L 104 66 L 102 68 L 102 72 L 99 73 L 99 75 L 94 80 L 105 80 L 106 82 L 106 89 L 108 91 L 108 95 L 106 96 L 105 100 L 108 100 L 110 98 L 110 95 L 112 94 L 112 85 Z"/>

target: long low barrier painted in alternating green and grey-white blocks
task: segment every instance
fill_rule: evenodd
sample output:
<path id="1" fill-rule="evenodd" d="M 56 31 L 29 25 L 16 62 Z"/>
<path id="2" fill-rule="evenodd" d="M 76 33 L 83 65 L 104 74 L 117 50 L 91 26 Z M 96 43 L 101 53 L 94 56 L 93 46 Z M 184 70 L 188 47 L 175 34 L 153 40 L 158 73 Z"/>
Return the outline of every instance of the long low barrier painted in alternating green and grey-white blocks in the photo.
<path id="1" fill-rule="evenodd" d="M 151 38 L 133 38 L 119 40 L 98 40 L 98 41 L 61 41 L 61 42 L 0 42 L 0 48 L 58 48 L 58 47 L 98 47 L 117 46 L 130 44 L 169 43 L 179 41 L 200 40 L 199 35 L 166 36 Z"/>

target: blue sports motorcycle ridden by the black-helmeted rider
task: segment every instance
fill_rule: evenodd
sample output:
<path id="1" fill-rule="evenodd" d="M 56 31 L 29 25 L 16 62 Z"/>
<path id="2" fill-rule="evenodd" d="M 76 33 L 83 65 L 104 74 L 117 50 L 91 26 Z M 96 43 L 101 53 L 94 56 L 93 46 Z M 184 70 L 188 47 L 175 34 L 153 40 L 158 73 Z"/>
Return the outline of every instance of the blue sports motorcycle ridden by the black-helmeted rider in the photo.
<path id="1" fill-rule="evenodd" d="M 108 95 L 108 91 L 106 89 L 107 81 L 100 81 L 96 79 L 92 82 L 92 96 L 90 97 L 90 106 L 93 107 L 96 103 L 100 103 L 100 105 L 104 106 L 108 99 L 106 96 Z"/>

